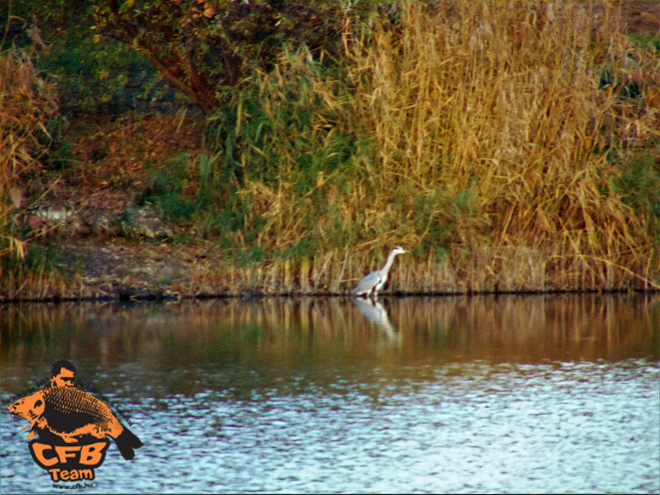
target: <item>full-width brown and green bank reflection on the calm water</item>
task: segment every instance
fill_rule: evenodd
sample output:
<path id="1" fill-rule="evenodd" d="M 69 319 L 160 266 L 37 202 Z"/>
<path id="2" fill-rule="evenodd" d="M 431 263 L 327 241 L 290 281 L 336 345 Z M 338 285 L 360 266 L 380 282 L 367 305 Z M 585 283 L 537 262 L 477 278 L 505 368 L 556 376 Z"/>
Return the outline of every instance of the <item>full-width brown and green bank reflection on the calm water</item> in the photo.
<path id="1" fill-rule="evenodd" d="M 62 304 L 0 312 L 3 366 L 71 358 L 159 366 L 278 366 L 660 357 L 660 296 L 384 298 L 393 340 L 343 298 L 221 300 L 166 306 Z"/>

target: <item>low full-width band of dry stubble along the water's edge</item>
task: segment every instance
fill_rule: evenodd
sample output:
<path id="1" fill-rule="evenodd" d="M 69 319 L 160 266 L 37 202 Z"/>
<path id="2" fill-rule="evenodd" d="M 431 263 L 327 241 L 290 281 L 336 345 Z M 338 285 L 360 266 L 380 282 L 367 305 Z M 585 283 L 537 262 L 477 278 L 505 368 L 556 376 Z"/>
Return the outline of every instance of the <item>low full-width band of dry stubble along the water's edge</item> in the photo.
<path id="1" fill-rule="evenodd" d="M 455 250 L 448 259 L 411 259 L 403 255 L 390 270 L 381 294 L 474 294 L 511 292 L 574 292 L 660 290 L 648 278 L 620 267 L 593 264 L 577 258 L 563 260 L 560 270 L 548 269 L 552 254 L 528 248 L 481 247 L 471 252 Z M 243 268 L 215 262 L 199 263 L 174 279 L 145 280 L 130 275 L 117 280 L 88 283 L 80 274 L 65 276 L 43 269 L 26 274 L 9 272 L 0 301 L 73 299 L 153 299 L 244 297 L 246 294 L 347 295 L 368 272 L 382 262 L 347 251 L 325 256 L 251 264 Z M 368 267 L 365 269 L 365 267 Z M 648 267 L 648 264 L 647 264 Z"/>

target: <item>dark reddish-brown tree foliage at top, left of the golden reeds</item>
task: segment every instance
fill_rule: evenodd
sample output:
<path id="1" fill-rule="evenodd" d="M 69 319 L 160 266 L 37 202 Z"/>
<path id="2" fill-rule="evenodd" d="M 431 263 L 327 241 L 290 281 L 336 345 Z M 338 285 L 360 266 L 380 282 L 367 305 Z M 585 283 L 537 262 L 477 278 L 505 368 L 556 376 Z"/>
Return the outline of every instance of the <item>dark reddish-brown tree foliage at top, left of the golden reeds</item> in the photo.
<path id="1" fill-rule="evenodd" d="M 286 43 L 338 56 L 341 30 L 370 2 L 341 0 L 110 0 L 95 10 L 100 35 L 131 44 L 202 110 L 254 68 L 272 67 Z"/>

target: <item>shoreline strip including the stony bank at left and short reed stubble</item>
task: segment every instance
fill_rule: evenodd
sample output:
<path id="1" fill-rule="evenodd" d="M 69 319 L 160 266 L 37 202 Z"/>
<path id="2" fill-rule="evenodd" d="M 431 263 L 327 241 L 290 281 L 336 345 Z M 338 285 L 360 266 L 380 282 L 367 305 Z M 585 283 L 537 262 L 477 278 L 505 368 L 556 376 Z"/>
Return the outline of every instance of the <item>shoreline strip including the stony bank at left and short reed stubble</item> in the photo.
<path id="1" fill-rule="evenodd" d="M 51 268 L 0 273 L 6 282 L 0 304 L 351 297 L 357 282 L 383 263 L 337 249 L 239 267 L 208 241 L 58 239 L 40 249 L 51 250 Z M 588 264 L 585 258 L 557 262 L 550 252 L 524 247 L 476 248 L 467 257 L 459 251 L 442 261 L 397 260 L 380 297 L 660 292 L 650 267 L 644 276 L 626 267 Z"/>

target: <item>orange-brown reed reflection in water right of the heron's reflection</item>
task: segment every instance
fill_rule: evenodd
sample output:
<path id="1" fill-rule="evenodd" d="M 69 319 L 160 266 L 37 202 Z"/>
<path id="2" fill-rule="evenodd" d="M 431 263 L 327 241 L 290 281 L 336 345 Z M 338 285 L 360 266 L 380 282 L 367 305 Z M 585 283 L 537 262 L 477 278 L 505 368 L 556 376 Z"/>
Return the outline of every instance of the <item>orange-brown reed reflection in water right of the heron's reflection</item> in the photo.
<path id="1" fill-rule="evenodd" d="M 657 297 L 461 297 L 432 306 L 419 311 L 414 300 L 401 299 L 392 310 L 393 324 L 405 322 L 425 338 L 442 334 L 448 348 L 498 360 L 660 356 Z"/>

